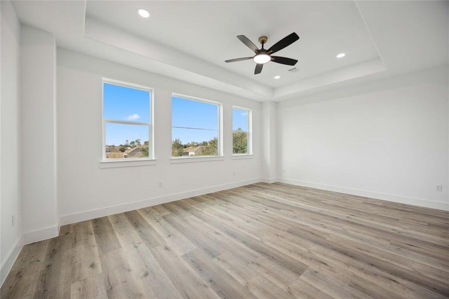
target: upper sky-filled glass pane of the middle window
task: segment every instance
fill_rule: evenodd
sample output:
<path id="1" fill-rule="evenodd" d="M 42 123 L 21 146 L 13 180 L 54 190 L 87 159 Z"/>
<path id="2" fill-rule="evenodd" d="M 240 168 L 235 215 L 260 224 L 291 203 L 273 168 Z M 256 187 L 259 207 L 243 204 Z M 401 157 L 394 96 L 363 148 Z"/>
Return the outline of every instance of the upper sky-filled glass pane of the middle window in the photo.
<path id="1" fill-rule="evenodd" d="M 173 96 L 171 126 L 218 130 L 218 105 Z"/>

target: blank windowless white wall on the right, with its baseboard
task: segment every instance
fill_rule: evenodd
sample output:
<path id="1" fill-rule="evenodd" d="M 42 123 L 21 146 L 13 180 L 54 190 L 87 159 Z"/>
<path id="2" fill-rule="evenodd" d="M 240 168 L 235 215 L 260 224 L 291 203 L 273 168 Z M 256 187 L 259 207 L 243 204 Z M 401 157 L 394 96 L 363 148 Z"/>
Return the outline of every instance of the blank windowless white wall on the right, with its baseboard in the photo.
<path id="1" fill-rule="evenodd" d="M 279 103 L 281 181 L 448 209 L 447 76 L 441 67 Z"/>

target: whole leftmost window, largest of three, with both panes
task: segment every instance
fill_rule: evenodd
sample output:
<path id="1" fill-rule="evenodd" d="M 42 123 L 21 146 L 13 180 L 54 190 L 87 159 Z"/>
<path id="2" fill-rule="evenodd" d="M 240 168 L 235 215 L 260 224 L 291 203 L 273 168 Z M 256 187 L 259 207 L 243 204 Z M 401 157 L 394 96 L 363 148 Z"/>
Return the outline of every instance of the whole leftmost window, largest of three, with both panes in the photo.
<path id="1" fill-rule="evenodd" d="M 103 160 L 151 159 L 152 89 L 103 79 Z"/>

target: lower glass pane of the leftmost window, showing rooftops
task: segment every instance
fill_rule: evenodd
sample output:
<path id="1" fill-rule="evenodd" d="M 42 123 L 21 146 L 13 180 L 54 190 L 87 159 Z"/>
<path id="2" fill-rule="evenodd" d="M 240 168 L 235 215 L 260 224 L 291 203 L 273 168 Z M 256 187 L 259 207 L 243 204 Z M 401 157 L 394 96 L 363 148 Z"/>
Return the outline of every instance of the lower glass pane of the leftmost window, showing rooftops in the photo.
<path id="1" fill-rule="evenodd" d="M 106 158 L 149 157 L 149 127 L 106 123 Z"/>

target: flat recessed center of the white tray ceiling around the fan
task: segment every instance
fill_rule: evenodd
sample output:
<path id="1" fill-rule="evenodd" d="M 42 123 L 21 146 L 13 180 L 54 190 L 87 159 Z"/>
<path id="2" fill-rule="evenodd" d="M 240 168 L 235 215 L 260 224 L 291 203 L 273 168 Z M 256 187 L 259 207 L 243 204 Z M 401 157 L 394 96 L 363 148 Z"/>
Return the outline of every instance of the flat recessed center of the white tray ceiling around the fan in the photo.
<path id="1" fill-rule="evenodd" d="M 151 18 L 136 15 L 139 7 Z M 179 49 L 270 87 L 347 67 L 379 57 L 354 1 L 88 1 L 86 13 L 150 41 Z M 298 59 L 292 67 L 268 63 L 254 75 L 252 60 L 224 60 L 253 56 L 236 36 L 243 34 L 256 45 L 266 35 L 266 49 L 297 32 L 299 41 L 276 55 Z M 337 59 L 336 54 L 347 56 Z M 281 79 L 273 77 L 281 75 Z"/>

